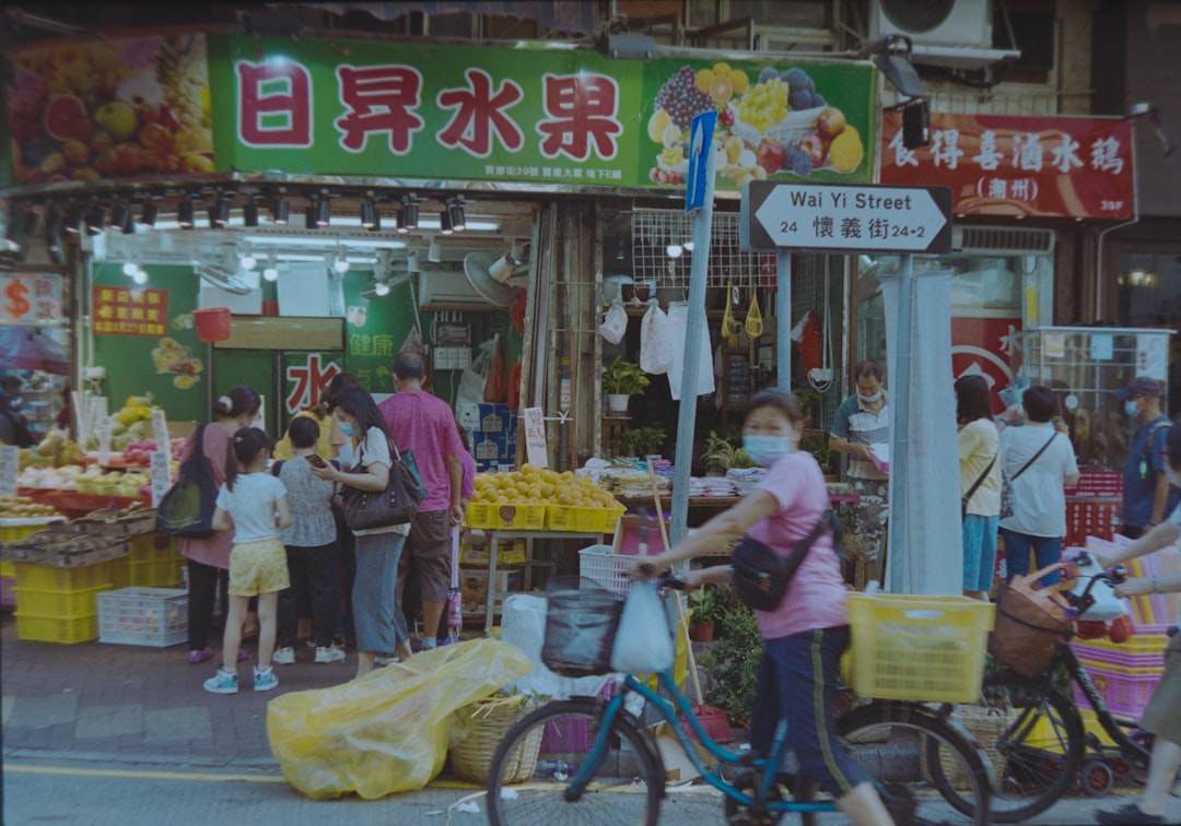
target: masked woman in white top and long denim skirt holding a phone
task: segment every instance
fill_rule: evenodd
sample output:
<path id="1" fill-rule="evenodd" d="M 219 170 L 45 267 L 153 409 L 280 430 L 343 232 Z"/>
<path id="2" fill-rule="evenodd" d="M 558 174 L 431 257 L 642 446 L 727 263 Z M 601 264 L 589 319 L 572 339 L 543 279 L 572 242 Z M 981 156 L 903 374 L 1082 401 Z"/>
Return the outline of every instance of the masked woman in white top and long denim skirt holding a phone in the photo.
<path id="1" fill-rule="evenodd" d="M 346 437 L 359 439 L 357 461 L 350 472 L 332 465 L 313 467 L 320 479 L 339 483 L 354 491 L 381 492 L 390 484 L 393 458 L 385 418 L 360 387 L 346 387 L 332 396 L 333 415 Z M 347 499 L 348 492 L 345 492 Z M 353 625 L 357 630 L 357 677 L 373 670 L 373 658 L 396 651 L 403 660 L 411 655 L 410 634 L 394 603 L 398 559 L 410 523 L 367 530 L 353 530 L 357 576 L 353 581 Z"/>

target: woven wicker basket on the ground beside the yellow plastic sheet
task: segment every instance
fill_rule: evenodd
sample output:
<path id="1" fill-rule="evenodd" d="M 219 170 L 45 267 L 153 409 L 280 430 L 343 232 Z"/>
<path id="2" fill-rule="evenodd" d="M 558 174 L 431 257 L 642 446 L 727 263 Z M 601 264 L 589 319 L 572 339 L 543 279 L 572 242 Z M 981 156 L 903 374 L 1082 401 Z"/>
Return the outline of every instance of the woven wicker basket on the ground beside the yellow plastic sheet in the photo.
<path id="1" fill-rule="evenodd" d="M 492 758 L 513 723 L 524 713 L 524 697 L 483 700 L 455 713 L 449 749 L 451 769 L 457 778 L 477 784 L 488 782 Z M 541 750 L 542 727 L 536 727 L 509 754 L 503 784 L 520 784 L 533 776 Z"/>

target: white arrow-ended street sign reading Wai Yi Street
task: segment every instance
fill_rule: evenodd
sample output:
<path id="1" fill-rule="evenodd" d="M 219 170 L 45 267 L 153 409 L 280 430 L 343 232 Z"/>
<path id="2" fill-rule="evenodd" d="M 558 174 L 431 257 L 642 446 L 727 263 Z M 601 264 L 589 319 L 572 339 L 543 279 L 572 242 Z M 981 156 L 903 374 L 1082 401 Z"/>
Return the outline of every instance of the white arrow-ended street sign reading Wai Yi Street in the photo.
<path id="1" fill-rule="evenodd" d="M 794 184 L 752 181 L 742 199 L 753 249 L 824 253 L 950 253 L 946 186 Z"/>

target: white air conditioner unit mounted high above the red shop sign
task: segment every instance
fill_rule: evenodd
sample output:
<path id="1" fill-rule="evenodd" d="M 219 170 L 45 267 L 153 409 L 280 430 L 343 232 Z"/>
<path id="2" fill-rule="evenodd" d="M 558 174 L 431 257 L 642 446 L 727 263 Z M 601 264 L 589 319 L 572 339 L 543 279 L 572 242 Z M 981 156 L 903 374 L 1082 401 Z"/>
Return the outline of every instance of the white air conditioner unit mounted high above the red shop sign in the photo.
<path id="1" fill-rule="evenodd" d="M 1020 52 L 992 48 L 992 0 L 872 0 L 869 40 L 905 34 L 914 61 L 981 68 Z"/>

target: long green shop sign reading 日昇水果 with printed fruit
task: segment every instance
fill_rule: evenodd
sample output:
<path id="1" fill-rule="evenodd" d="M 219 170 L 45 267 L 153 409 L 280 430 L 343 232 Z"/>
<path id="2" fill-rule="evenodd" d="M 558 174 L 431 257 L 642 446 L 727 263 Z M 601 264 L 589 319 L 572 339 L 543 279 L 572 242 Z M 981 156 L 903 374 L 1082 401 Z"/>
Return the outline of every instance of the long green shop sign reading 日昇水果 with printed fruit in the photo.
<path id="1" fill-rule="evenodd" d="M 680 186 L 717 109 L 717 185 L 869 182 L 873 70 L 589 50 L 209 40 L 218 171 Z"/>

